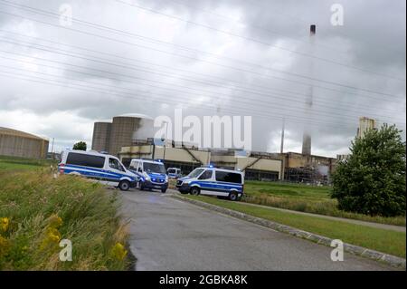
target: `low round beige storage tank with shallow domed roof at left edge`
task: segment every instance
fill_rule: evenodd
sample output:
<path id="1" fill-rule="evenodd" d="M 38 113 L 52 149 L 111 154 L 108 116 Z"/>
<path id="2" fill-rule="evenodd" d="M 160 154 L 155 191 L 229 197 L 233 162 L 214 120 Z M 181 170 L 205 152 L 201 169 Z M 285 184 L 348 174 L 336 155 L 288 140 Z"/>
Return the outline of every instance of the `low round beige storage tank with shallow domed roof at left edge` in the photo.
<path id="1" fill-rule="evenodd" d="M 29 159 L 45 159 L 49 140 L 33 134 L 0 127 L 0 155 Z"/>

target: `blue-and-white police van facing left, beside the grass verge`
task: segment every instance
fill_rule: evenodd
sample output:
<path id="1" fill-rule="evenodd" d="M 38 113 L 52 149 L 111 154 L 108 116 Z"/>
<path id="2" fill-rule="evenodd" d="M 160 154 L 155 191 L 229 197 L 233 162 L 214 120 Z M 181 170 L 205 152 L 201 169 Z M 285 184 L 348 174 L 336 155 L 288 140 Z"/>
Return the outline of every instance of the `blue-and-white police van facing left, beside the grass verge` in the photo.
<path id="1" fill-rule="evenodd" d="M 197 168 L 188 176 L 178 178 L 176 188 L 182 194 L 209 195 L 240 200 L 243 195 L 244 176 L 232 169 Z"/>

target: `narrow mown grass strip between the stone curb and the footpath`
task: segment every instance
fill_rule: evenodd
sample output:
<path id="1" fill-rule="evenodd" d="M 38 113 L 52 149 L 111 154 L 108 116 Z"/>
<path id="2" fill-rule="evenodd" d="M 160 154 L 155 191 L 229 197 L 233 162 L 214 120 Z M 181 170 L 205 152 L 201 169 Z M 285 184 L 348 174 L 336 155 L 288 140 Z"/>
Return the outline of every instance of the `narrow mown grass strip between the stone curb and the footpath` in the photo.
<path id="1" fill-rule="evenodd" d="M 221 200 L 214 197 L 195 197 L 190 195 L 185 195 L 185 197 L 198 199 L 209 204 L 240 211 L 254 217 L 262 217 L 321 236 L 340 239 L 345 243 L 356 246 L 364 246 L 383 253 L 405 258 L 406 235 L 402 232 L 374 228 L 370 226 L 355 225 L 321 217 L 303 216 L 272 208 L 253 207 L 241 202 Z"/>

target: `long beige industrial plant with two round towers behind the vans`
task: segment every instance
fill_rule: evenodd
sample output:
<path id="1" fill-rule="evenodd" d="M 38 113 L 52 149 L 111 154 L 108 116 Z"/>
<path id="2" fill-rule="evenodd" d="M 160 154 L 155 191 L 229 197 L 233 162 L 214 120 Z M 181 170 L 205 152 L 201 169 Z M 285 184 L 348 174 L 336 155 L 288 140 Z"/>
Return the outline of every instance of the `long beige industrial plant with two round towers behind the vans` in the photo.
<path id="1" fill-rule="evenodd" d="M 202 149 L 172 140 L 161 140 L 158 144 L 152 135 L 152 119 L 139 114 L 120 115 L 111 121 L 95 122 L 91 148 L 118 156 L 126 166 L 130 159 L 162 159 L 166 168 L 189 173 L 211 164 L 240 169 L 246 179 L 257 180 L 327 183 L 335 169 L 336 159 L 311 155 L 308 149 L 306 154 L 251 151 L 243 156 L 238 149 Z"/>

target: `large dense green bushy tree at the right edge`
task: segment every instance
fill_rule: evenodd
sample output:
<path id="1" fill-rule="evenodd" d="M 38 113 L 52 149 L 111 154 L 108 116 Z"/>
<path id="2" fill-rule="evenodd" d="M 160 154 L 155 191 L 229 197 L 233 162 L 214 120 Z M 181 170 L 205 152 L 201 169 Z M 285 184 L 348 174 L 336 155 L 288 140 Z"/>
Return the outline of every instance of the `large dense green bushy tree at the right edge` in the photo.
<path id="1" fill-rule="evenodd" d="M 383 124 L 352 141 L 351 155 L 337 164 L 331 197 L 338 208 L 371 216 L 405 216 L 406 144 L 401 130 Z"/>

